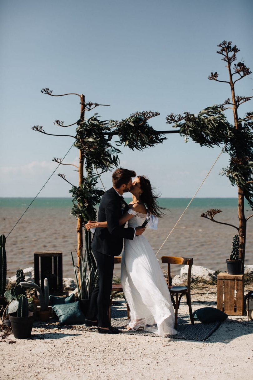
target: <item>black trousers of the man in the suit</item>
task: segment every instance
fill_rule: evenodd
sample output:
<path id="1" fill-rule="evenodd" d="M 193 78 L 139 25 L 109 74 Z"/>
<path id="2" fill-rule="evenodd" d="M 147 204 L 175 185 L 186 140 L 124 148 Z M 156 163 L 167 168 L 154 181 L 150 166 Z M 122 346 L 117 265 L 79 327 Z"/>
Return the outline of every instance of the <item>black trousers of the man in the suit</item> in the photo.
<path id="1" fill-rule="evenodd" d="M 93 254 L 97 262 L 98 285 L 91 294 L 86 319 L 97 320 L 99 327 L 109 327 L 108 308 L 112 292 L 114 256 L 104 255 L 94 250 Z"/>

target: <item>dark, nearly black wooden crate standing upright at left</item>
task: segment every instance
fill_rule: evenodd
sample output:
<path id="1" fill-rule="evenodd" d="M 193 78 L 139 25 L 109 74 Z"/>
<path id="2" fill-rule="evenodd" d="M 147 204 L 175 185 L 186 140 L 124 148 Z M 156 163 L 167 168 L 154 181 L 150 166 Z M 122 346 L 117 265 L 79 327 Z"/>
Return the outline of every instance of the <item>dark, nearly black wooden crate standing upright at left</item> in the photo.
<path id="1" fill-rule="evenodd" d="M 44 279 L 49 282 L 49 294 L 63 294 L 62 251 L 34 253 L 34 280 L 44 292 Z"/>

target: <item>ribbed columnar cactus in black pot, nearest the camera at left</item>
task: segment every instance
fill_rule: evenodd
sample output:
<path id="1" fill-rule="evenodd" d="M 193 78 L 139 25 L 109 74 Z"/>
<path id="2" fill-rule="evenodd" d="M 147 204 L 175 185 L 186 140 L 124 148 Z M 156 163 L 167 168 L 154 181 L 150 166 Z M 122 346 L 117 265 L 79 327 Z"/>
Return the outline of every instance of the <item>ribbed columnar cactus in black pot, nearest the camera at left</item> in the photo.
<path id="1" fill-rule="evenodd" d="M 9 320 L 15 338 L 27 339 L 31 336 L 34 316 L 33 312 L 28 310 L 28 300 L 24 294 L 19 296 L 17 312 L 10 313 Z"/>

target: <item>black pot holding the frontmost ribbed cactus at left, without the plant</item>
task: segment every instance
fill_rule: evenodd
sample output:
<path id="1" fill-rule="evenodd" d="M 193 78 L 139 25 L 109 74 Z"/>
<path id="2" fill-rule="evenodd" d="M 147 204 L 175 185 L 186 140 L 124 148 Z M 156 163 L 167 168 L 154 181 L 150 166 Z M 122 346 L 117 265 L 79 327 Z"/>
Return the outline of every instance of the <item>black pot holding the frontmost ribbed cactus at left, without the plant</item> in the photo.
<path id="1" fill-rule="evenodd" d="M 10 313 L 9 320 L 14 337 L 17 339 L 27 339 L 31 336 L 33 328 L 34 315 L 33 312 L 28 312 L 28 317 L 17 317 L 17 313 Z"/>

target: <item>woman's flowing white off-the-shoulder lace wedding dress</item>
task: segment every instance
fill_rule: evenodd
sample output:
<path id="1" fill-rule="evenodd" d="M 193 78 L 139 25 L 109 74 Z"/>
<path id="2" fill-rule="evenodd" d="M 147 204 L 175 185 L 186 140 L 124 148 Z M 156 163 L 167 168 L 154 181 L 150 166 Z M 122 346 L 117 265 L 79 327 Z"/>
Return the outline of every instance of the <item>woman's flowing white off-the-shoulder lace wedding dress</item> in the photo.
<path id="1" fill-rule="evenodd" d="M 134 215 L 129 227 L 141 226 L 146 215 L 130 209 Z M 124 239 L 121 259 L 121 284 L 130 309 L 129 327 L 138 326 L 160 336 L 174 335 L 174 310 L 170 291 L 151 245 L 144 236 Z M 137 327 L 138 327 L 137 326 Z"/>

